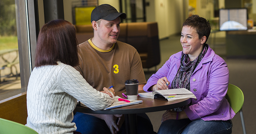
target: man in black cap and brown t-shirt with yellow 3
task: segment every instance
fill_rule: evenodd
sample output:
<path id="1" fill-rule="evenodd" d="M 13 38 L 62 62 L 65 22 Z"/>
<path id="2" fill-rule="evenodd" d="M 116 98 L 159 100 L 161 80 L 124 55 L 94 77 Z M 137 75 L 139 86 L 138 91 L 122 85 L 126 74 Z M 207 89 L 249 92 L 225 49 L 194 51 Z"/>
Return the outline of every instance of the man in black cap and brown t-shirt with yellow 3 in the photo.
<path id="1" fill-rule="evenodd" d="M 98 91 L 103 87 L 113 86 L 115 91 L 125 90 L 125 80 L 138 79 L 139 90 L 147 83 L 139 53 L 131 45 L 117 41 L 120 33 L 119 13 L 113 6 L 102 4 L 93 9 L 91 14 L 94 36 L 79 45 L 79 66 L 76 70 Z M 153 126 L 144 114 L 138 114 L 138 133 L 150 134 Z M 83 134 L 125 133 L 123 115 L 93 115 L 77 112 L 73 122 Z"/>

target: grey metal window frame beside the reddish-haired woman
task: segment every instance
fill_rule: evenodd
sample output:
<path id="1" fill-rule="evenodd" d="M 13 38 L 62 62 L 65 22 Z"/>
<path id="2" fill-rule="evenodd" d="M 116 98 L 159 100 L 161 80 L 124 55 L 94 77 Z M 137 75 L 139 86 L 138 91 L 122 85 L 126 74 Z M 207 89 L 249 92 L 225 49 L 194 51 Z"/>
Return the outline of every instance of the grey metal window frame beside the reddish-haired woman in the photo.
<path id="1" fill-rule="evenodd" d="M 34 1 L 36 0 L 15 0 L 21 93 L 27 91 L 28 79 L 35 64 L 34 55 L 38 31 L 36 32 L 35 10 L 37 7 L 35 9 Z"/>

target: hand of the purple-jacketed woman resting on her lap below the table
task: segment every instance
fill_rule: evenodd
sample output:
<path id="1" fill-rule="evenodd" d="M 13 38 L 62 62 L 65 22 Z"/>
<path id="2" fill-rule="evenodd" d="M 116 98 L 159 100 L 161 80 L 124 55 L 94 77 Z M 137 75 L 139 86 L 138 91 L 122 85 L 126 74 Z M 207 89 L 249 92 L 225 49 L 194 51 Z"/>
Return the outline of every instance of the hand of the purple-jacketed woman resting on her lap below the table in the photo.
<path id="1" fill-rule="evenodd" d="M 186 119 L 186 118 L 188 118 L 188 116 L 187 116 L 187 114 L 184 110 L 179 112 L 178 120 Z M 176 111 L 166 110 L 166 112 L 162 116 L 161 123 L 166 121 L 166 120 L 176 120 L 176 119 L 177 119 L 177 112 Z"/>

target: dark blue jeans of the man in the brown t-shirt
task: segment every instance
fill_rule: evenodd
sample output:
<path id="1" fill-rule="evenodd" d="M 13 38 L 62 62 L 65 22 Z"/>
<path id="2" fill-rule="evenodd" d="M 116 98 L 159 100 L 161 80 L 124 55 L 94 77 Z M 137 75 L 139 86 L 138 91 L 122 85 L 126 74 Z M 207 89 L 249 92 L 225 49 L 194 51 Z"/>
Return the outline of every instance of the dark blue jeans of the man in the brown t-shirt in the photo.
<path id="1" fill-rule="evenodd" d="M 116 120 L 117 123 L 118 119 Z M 76 131 L 82 134 L 111 134 L 106 122 L 100 118 L 84 113 L 76 112 L 73 121 L 76 123 Z M 153 130 L 148 115 L 137 114 L 138 134 L 156 134 Z M 125 134 L 125 122 L 121 126 L 118 134 Z"/>

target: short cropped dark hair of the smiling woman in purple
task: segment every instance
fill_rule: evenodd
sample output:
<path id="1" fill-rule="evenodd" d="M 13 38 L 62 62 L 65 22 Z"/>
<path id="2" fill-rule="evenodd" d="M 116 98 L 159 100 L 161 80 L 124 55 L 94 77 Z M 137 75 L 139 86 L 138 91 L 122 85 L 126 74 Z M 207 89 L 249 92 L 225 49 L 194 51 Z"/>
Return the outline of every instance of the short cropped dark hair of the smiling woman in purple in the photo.
<path id="1" fill-rule="evenodd" d="M 199 17 L 198 15 L 192 15 L 188 17 L 183 23 L 183 26 L 191 26 L 196 30 L 199 35 L 199 39 L 203 36 L 206 36 L 206 41 L 211 33 L 211 24 L 209 20 L 207 21 L 203 17 Z M 204 43 L 206 43 L 206 41 Z"/>

